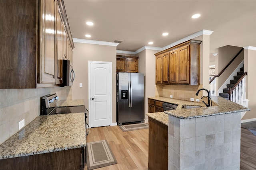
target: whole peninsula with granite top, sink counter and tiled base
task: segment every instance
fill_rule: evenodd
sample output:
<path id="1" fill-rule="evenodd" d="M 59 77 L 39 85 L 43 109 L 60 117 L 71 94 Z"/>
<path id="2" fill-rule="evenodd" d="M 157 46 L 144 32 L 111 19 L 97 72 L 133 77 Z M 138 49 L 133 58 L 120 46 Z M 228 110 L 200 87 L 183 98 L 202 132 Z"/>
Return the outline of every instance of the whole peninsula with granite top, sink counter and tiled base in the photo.
<path id="1" fill-rule="evenodd" d="M 182 106 L 205 105 L 170 98 L 149 98 L 178 104 L 176 110 L 147 113 L 149 126 L 154 123 L 154 125 L 158 125 L 158 131 L 161 129 L 159 127 L 168 131 L 168 134 L 165 134 L 168 135 L 168 163 L 166 163 L 168 169 L 205 169 L 206 167 L 222 169 L 229 167 L 239 170 L 240 116 L 242 111 L 250 109 L 221 97 L 211 96 L 211 98 L 215 106 L 193 109 L 183 109 Z M 151 127 L 149 128 L 151 129 Z M 149 134 L 156 135 L 155 132 Z M 154 169 L 150 168 L 152 158 L 150 139 L 154 139 L 154 137 L 156 136 L 149 136 L 149 169 Z M 154 146 L 159 147 L 160 145 L 155 144 Z M 163 152 L 162 155 L 164 155 Z M 158 158 L 158 155 L 153 155 L 153 157 Z M 158 160 L 161 160 L 161 155 Z"/>

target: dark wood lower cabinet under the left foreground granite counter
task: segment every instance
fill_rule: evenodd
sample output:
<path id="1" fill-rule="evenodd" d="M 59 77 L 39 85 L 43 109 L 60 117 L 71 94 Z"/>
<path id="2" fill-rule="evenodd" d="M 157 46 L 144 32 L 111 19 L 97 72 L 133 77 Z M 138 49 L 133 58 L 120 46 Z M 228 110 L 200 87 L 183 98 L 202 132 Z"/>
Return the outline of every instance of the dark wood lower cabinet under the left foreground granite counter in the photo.
<path id="1" fill-rule="evenodd" d="M 83 148 L 1 159 L 3 170 L 82 170 Z"/>

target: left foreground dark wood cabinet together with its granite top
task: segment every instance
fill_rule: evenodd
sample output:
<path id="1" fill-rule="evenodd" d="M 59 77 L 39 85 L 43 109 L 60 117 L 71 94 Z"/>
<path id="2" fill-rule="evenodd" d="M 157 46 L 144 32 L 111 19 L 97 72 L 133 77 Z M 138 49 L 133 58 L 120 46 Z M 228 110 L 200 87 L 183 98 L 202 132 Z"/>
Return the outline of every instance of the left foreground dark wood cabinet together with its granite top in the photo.
<path id="1" fill-rule="evenodd" d="M 84 147 L 84 113 L 41 115 L 0 145 L 1 169 L 81 169 Z"/>

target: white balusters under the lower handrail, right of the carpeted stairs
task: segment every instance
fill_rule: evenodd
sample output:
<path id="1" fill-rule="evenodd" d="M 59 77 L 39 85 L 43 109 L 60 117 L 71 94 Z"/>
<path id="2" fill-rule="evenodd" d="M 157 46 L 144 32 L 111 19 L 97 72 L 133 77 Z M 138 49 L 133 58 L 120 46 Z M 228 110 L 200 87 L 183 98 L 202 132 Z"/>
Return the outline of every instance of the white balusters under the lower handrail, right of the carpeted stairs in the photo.
<path id="1" fill-rule="evenodd" d="M 246 79 L 245 76 L 247 72 L 244 72 L 242 77 L 236 82 L 236 84 L 231 88 L 228 88 L 228 99 L 237 104 L 243 105 L 246 98 Z"/>

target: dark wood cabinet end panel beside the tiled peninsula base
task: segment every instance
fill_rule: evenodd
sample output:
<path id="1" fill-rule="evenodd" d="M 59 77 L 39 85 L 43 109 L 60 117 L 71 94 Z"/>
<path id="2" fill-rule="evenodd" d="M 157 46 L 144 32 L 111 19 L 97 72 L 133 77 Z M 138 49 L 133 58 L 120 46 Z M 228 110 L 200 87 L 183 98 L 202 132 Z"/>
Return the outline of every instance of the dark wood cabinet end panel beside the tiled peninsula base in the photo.
<path id="1" fill-rule="evenodd" d="M 148 117 L 148 169 L 168 169 L 168 126 Z"/>

